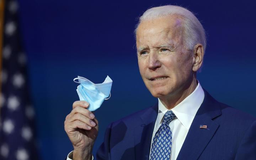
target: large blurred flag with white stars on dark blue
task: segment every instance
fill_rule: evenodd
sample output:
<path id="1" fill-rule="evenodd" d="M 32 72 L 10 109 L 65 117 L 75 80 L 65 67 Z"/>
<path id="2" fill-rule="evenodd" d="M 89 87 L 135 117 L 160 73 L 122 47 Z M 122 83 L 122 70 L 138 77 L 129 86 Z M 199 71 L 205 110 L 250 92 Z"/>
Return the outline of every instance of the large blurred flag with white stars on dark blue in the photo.
<path id="1" fill-rule="evenodd" d="M 2 18 L 0 159 L 38 160 L 34 110 L 28 90 L 26 55 L 21 43 L 16 0 L 5 0 Z"/>

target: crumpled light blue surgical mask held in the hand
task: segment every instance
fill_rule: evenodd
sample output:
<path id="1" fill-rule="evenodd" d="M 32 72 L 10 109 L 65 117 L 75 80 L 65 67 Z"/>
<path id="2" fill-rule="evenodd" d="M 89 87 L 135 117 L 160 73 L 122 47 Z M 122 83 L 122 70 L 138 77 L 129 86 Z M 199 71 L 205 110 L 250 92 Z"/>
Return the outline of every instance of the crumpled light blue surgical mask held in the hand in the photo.
<path id="1" fill-rule="evenodd" d="M 80 84 L 76 91 L 80 101 L 86 101 L 90 104 L 89 111 L 95 111 L 100 108 L 103 101 L 108 100 L 111 96 L 110 90 L 113 81 L 109 76 L 101 84 L 94 84 L 90 80 L 80 76 L 75 78 L 74 82 Z"/>

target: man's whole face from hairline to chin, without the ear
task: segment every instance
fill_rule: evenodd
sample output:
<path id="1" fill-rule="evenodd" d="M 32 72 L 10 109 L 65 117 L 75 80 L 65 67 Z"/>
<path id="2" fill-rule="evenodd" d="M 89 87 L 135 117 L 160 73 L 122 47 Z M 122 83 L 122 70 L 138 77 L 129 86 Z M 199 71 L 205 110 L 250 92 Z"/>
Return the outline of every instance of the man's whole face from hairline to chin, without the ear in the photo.
<path id="1" fill-rule="evenodd" d="M 138 64 L 154 97 L 172 97 L 191 84 L 193 52 L 183 44 L 182 20 L 177 16 L 142 21 L 137 29 Z"/>

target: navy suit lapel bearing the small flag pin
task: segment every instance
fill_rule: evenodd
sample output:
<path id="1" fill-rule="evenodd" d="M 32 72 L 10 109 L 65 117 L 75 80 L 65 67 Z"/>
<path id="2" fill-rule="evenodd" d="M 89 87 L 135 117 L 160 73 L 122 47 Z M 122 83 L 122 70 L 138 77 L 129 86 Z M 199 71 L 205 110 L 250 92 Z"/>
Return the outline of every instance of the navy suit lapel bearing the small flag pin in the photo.
<path id="1" fill-rule="evenodd" d="M 219 104 L 204 90 L 204 101 L 193 119 L 177 160 L 198 159 L 219 127 L 212 119 L 221 115 Z M 206 125 L 207 128 L 199 128 Z"/>

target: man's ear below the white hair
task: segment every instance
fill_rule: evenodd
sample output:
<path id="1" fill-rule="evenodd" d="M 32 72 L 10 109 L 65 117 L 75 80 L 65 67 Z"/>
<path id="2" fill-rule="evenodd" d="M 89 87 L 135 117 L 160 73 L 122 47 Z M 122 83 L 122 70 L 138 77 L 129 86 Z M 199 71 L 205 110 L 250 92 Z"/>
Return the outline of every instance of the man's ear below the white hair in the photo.
<path id="1" fill-rule="evenodd" d="M 199 70 L 199 68 L 203 64 L 203 56 L 204 56 L 203 45 L 196 44 L 196 46 L 194 46 L 193 53 L 194 53 L 193 54 L 193 57 L 194 57 L 193 71 L 196 72 Z"/>

